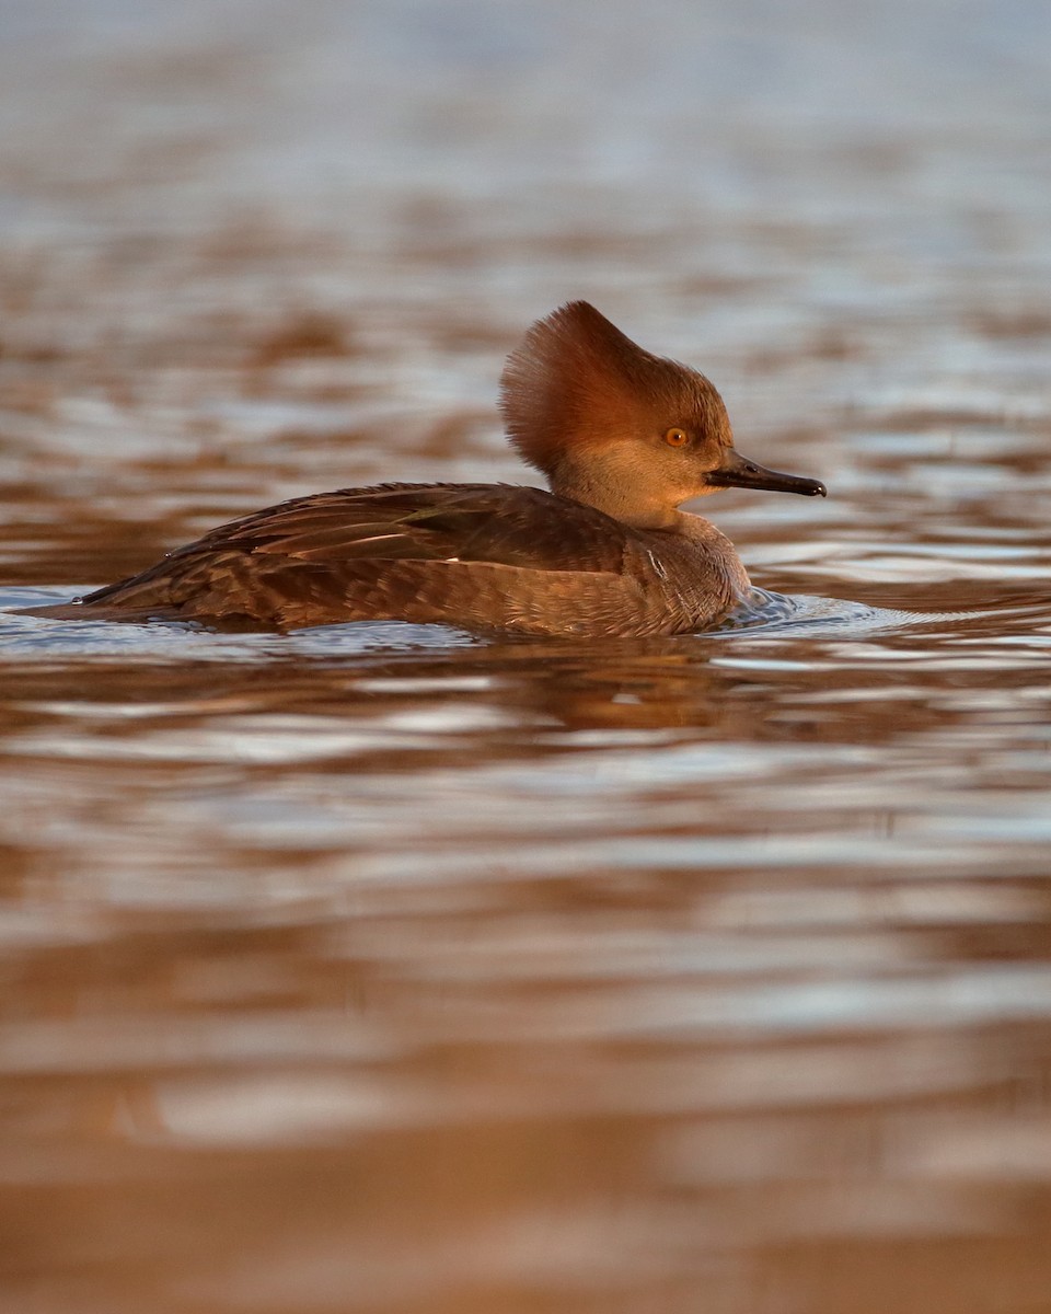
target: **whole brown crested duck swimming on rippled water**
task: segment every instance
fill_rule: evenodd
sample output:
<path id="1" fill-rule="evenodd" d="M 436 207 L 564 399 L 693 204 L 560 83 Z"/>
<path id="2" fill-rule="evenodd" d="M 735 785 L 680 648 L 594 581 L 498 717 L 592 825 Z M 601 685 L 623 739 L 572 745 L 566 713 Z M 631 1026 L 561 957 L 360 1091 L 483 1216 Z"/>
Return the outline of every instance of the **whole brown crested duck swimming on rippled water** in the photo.
<path id="1" fill-rule="evenodd" d="M 677 635 L 712 627 L 751 591 L 730 540 L 684 502 L 728 487 L 826 495 L 818 480 L 740 455 L 715 385 L 645 351 L 586 301 L 527 330 L 507 357 L 499 410 L 547 489 L 380 484 L 297 497 L 33 611 L 269 631 L 402 620 Z"/>

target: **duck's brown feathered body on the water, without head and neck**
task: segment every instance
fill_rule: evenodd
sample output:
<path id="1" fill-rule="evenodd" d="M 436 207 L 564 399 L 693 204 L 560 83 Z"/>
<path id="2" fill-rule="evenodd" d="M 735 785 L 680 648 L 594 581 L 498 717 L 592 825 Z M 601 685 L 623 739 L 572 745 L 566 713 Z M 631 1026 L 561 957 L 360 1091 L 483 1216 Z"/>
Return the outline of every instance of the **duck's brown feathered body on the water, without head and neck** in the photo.
<path id="1" fill-rule="evenodd" d="M 749 581 L 700 516 L 631 530 L 536 487 L 386 484 L 234 520 L 62 611 L 296 629 L 440 622 L 526 635 L 669 635 L 725 615 Z"/>

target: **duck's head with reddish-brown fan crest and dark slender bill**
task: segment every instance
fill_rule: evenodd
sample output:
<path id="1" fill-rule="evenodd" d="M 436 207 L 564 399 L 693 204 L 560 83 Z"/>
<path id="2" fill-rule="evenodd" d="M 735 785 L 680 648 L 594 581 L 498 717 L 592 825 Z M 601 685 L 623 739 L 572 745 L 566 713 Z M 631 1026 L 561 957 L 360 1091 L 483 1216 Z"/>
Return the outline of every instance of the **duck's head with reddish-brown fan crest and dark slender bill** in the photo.
<path id="1" fill-rule="evenodd" d="M 734 451 L 727 407 L 704 374 L 644 351 L 586 301 L 526 332 L 501 378 L 501 413 L 553 493 L 627 524 L 669 526 L 683 502 L 724 487 L 825 495 L 817 480 Z"/>

